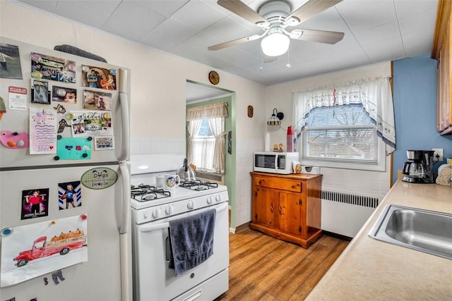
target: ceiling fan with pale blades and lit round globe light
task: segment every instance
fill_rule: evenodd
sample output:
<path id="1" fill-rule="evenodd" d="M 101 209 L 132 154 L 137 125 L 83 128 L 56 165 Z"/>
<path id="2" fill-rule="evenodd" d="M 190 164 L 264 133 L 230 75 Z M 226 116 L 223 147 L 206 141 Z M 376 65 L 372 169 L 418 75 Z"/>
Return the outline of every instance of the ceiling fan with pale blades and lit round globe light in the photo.
<path id="1" fill-rule="evenodd" d="M 232 11 L 237 16 L 248 20 L 262 28 L 262 35 L 251 35 L 229 42 L 208 47 L 209 50 L 219 50 L 236 46 L 244 42 L 254 41 L 264 37 L 261 41 L 263 54 L 266 56 L 280 56 L 289 49 L 290 39 L 335 44 L 344 37 L 343 32 L 325 30 L 294 29 L 287 31 L 287 27 L 300 23 L 338 4 L 342 0 L 309 0 L 295 11 L 291 12 L 290 4 L 283 0 L 272 0 L 264 3 L 254 11 L 240 0 L 218 0 L 218 5 Z"/>

